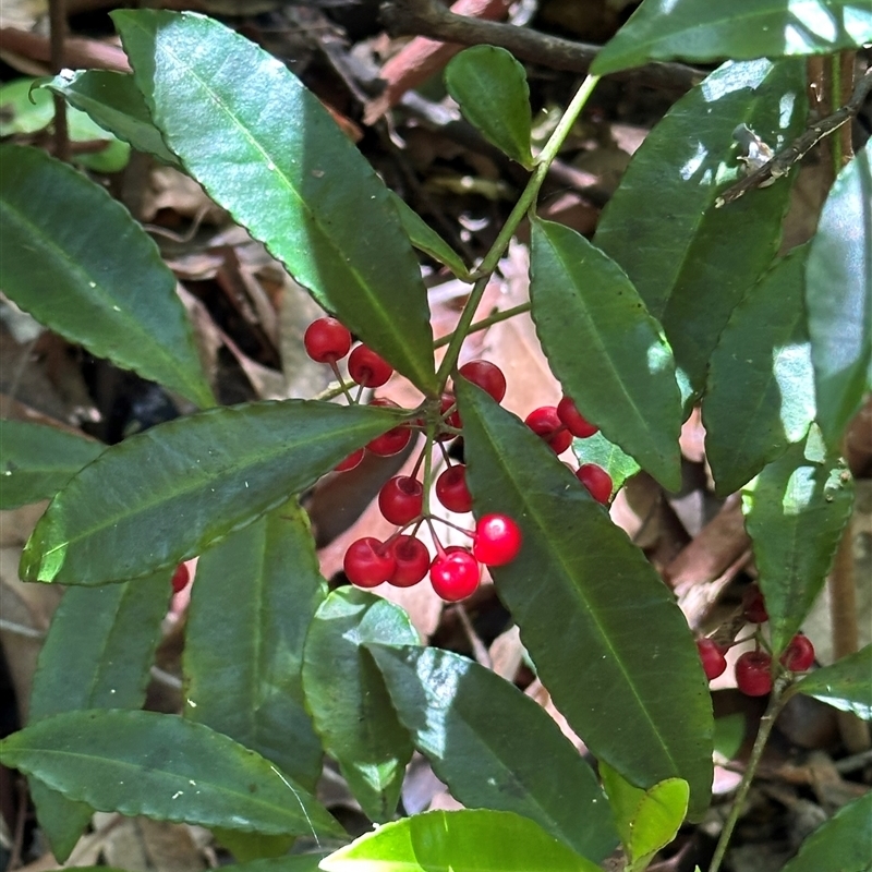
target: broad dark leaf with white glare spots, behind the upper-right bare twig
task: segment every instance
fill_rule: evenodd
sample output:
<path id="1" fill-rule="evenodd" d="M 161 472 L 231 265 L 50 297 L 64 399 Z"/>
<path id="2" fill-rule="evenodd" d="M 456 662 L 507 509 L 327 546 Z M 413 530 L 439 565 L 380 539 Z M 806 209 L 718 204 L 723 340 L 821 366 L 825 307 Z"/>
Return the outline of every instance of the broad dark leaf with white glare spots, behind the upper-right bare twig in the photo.
<path id="1" fill-rule="evenodd" d="M 620 264 L 675 352 L 687 389 L 736 304 L 770 266 L 789 181 L 715 208 L 740 175 L 732 132 L 748 124 L 772 147 L 804 126 L 798 61 L 726 63 L 686 94 L 645 137 L 603 211 L 594 242 Z"/>

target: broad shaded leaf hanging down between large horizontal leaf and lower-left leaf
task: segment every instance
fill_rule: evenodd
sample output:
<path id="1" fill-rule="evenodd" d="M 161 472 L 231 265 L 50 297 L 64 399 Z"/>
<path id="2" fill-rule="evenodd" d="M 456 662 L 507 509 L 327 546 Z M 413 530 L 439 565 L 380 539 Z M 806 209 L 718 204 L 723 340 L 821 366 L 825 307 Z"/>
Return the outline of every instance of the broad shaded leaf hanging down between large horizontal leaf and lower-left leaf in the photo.
<path id="1" fill-rule="evenodd" d="M 307 790 L 322 749 L 305 711 L 303 645 L 326 595 L 308 519 L 292 500 L 199 558 L 185 630 L 185 717 L 257 751 Z"/>

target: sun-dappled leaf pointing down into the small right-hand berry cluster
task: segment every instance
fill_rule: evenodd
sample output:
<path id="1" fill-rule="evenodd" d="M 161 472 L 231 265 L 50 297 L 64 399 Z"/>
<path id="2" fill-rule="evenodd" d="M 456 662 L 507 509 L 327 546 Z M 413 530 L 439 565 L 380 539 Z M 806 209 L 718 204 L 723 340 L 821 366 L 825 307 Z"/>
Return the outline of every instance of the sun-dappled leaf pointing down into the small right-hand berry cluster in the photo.
<path id="1" fill-rule="evenodd" d="M 850 472 L 816 452 L 814 435 L 765 467 L 742 494 L 775 654 L 821 592 L 853 505 Z"/>

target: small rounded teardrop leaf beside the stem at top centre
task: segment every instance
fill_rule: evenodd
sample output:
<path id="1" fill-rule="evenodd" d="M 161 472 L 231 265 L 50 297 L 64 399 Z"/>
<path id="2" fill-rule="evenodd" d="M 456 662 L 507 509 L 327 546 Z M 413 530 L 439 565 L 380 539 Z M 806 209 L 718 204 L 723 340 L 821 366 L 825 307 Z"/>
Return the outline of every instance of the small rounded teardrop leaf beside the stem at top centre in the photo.
<path id="1" fill-rule="evenodd" d="M 445 69 L 445 86 L 460 111 L 489 143 L 526 169 L 532 118 L 524 68 L 505 48 L 474 46 Z"/>

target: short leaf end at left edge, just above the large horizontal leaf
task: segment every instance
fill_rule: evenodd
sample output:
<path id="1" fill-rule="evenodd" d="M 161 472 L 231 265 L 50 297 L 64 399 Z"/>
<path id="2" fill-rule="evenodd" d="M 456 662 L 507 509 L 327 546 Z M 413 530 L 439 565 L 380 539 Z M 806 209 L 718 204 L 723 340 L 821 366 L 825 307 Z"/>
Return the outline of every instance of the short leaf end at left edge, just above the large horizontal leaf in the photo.
<path id="1" fill-rule="evenodd" d="M 57 427 L 0 421 L 0 509 L 50 499 L 105 447 Z"/>

